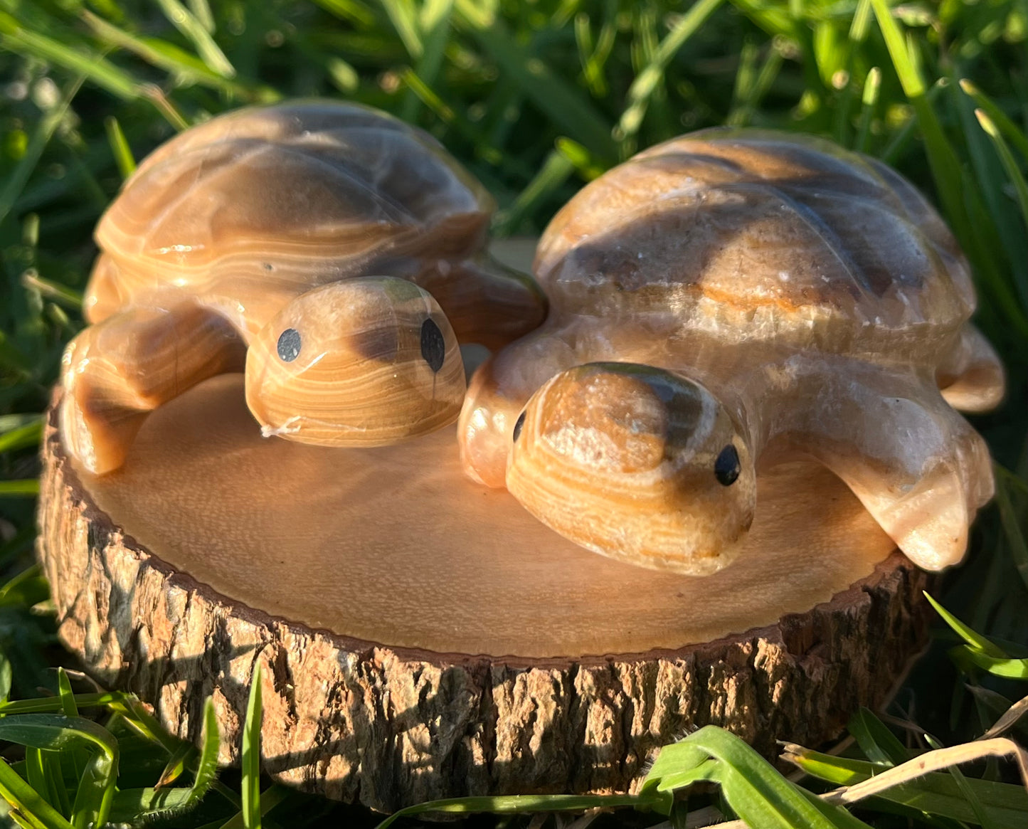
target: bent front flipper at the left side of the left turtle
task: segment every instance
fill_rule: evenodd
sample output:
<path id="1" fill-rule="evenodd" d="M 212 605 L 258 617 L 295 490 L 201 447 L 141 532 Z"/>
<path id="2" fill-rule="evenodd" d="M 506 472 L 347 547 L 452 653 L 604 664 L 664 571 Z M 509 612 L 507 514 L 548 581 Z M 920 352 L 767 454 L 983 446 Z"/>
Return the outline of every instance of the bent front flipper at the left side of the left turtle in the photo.
<path id="1" fill-rule="evenodd" d="M 243 369 L 245 347 L 192 302 L 116 314 L 76 336 L 63 358 L 61 435 L 90 472 L 117 469 L 146 416 L 200 381 Z"/>

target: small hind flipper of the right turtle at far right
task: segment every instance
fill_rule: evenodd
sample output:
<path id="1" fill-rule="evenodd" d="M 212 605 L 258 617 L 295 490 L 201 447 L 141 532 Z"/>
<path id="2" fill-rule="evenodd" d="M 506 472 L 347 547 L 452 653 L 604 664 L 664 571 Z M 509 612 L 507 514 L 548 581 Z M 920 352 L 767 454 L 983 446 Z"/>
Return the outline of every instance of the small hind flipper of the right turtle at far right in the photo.
<path id="1" fill-rule="evenodd" d="M 946 402 L 961 411 L 988 411 L 1003 398 L 1003 365 L 970 323 L 940 361 L 935 380 Z"/>

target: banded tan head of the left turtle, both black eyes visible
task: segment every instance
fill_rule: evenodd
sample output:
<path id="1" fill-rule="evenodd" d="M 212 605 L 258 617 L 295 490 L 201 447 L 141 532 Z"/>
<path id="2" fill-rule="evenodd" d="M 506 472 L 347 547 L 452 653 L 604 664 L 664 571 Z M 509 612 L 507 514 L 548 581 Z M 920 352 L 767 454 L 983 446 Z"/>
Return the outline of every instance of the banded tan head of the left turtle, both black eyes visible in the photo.
<path id="1" fill-rule="evenodd" d="M 250 344 L 247 404 L 265 435 L 374 446 L 456 420 L 461 351 L 439 303 L 411 282 L 366 277 L 293 299 Z"/>

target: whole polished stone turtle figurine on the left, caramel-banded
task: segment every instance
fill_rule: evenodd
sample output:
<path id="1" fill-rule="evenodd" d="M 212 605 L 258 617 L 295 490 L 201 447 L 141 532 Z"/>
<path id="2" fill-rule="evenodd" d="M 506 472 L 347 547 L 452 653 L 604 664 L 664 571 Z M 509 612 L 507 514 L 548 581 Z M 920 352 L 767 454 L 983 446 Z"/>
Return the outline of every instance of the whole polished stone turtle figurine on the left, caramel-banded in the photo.
<path id="1" fill-rule="evenodd" d="M 98 474 L 146 414 L 246 370 L 265 435 L 369 446 L 452 423 L 458 343 L 497 349 L 545 298 L 484 252 L 494 204 L 426 133 L 326 101 L 175 137 L 97 228 L 91 326 L 64 355 L 61 429 Z"/>

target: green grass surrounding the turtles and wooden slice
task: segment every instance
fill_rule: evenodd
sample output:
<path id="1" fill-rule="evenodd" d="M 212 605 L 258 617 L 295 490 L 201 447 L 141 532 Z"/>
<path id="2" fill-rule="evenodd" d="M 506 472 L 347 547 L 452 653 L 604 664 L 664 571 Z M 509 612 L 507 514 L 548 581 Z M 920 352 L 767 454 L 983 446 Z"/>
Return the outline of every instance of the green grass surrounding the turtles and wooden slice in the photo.
<path id="1" fill-rule="evenodd" d="M 1011 380 L 1006 404 L 975 420 L 997 462 L 998 493 L 976 527 L 968 564 L 937 591 L 952 611 L 944 612 L 952 633 L 940 634 L 884 721 L 854 715 L 845 757 L 786 747 L 807 774 L 804 788 L 727 732 L 702 729 L 663 752 L 634 797 L 478 798 L 431 808 L 501 816 L 477 819 L 488 826 L 600 805 L 621 806 L 600 821 L 630 826 L 680 825 L 687 813 L 762 827 L 1028 825 L 1004 742 L 1023 742 L 1028 728 L 1007 723 L 1004 734 L 968 743 L 1028 692 L 1026 0 L 0 0 L 7 820 L 377 820 L 262 784 L 252 728 L 243 772 L 216 777 L 211 709 L 203 745 L 187 747 L 132 697 L 69 681 L 53 668 L 71 658 L 57 645 L 46 584 L 31 565 L 39 412 L 63 345 L 81 326 L 97 219 L 136 159 L 177 130 L 294 96 L 363 101 L 432 132 L 497 196 L 499 235 L 538 232 L 585 181 L 688 130 L 773 127 L 861 149 L 940 207 L 972 263 L 978 323 Z M 259 720 L 255 696 L 248 721 Z M 907 779 L 903 764 L 912 759 L 944 765 Z M 972 764 L 939 770 L 959 760 Z M 854 799 L 874 778 L 889 788 Z M 813 794 L 840 785 L 850 788 Z"/>

